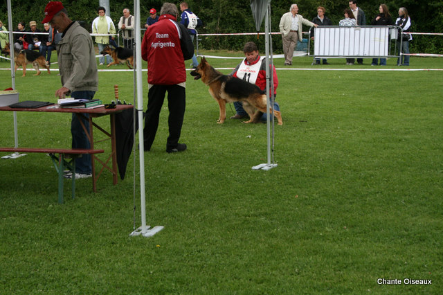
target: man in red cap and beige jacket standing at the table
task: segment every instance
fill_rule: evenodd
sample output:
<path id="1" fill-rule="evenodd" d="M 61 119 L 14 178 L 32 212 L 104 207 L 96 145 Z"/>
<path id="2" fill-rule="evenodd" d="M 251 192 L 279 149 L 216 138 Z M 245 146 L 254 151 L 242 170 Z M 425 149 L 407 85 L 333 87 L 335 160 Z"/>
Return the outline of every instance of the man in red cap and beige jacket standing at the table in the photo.
<path id="1" fill-rule="evenodd" d="M 71 21 L 62 2 L 51 1 L 44 10 L 46 17 L 42 23 L 48 22 L 62 34 L 57 45 L 58 66 L 62 88 L 55 91 L 55 96 L 64 98 L 71 93 L 71 98 L 92 99 L 98 89 L 98 73 L 94 44 L 89 32 L 77 21 Z M 91 143 L 84 132 L 82 124 L 89 132 L 89 116 L 72 114 L 71 134 L 72 147 L 90 149 Z M 92 177 L 91 155 L 75 159 L 75 178 Z M 65 175 L 72 178 L 72 174 Z"/>

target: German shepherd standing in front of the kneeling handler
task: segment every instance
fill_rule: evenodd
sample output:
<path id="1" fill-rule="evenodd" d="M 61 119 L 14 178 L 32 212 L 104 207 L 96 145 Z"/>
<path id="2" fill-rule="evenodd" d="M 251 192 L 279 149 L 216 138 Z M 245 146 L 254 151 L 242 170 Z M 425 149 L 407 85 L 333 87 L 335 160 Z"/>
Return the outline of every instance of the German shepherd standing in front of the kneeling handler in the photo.
<path id="1" fill-rule="evenodd" d="M 242 102 L 244 110 L 249 115 L 249 120 L 244 123 L 258 123 L 262 114 L 266 113 L 265 91 L 255 84 L 220 73 L 206 62 L 205 57 L 201 57 L 199 66 L 190 74 L 195 80 L 201 78 L 201 82 L 209 86 L 210 95 L 219 103 L 220 116 L 217 123 L 222 124 L 226 120 L 226 102 Z M 255 109 L 259 111 L 254 114 Z M 278 125 L 283 125 L 280 111 L 273 109 L 271 111 L 277 118 Z"/>

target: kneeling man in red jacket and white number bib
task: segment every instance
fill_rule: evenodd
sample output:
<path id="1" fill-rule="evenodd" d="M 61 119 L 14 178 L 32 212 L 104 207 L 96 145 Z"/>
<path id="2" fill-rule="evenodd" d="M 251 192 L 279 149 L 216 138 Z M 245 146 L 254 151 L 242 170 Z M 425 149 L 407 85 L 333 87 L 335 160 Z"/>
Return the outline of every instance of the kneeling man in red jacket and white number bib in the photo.
<path id="1" fill-rule="evenodd" d="M 264 60 L 264 57 L 260 57 L 257 45 L 255 45 L 254 42 L 246 42 L 246 44 L 244 44 L 243 52 L 244 55 L 246 55 L 246 58 L 237 65 L 231 74 L 234 77 L 257 85 L 258 88 L 266 92 L 266 61 Z M 273 66 L 272 73 L 274 87 L 273 95 L 275 97 L 277 95 L 278 87 L 278 78 L 277 71 L 275 71 L 275 66 Z M 272 91 L 272 89 L 269 89 L 269 91 Z M 272 93 L 270 94 L 272 95 Z M 234 102 L 234 107 L 237 114 L 230 117 L 231 119 L 241 119 L 248 116 L 248 113 L 246 113 L 246 111 L 243 109 L 242 102 Z M 275 101 L 273 109 L 280 111 L 280 107 Z M 262 121 L 266 122 L 266 114 L 263 114 L 261 119 Z"/>

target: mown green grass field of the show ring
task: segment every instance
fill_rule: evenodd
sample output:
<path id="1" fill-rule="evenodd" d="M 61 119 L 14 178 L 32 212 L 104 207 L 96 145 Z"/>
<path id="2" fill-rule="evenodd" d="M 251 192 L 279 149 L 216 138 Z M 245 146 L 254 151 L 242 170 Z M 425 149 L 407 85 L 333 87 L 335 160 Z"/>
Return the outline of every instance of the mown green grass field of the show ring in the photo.
<path id="1" fill-rule="evenodd" d="M 266 162 L 266 125 L 218 125 L 217 103 L 188 75 L 181 136 L 188 150 L 165 152 L 165 104 L 145 153 L 147 223 L 165 226 L 152 238 L 129 237 L 134 159 L 124 181 L 112 186 L 105 175 L 97 193 L 90 179 L 80 179 L 70 199 L 66 180 L 62 205 L 44 154 L 0 159 L 0 293 L 439 294 L 442 71 L 283 70 L 404 69 L 392 59 L 383 68 L 370 60 L 351 68 L 344 59 L 317 67 L 311 61 L 294 58 L 283 68 L 275 60 L 284 125 L 275 126 L 278 167 L 269 171 L 251 169 Z M 443 69 L 438 58 L 412 57 L 410 64 Z M 55 102 L 57 72 L 33 73 L 22 78 L 17 71 L 20 100 Z M 120 98 L 133 100 L 132 77 L 100 72 L 96 98 L 110 102 L 118 84 Z M 10 87 L 9 71 L 0 70 L 0 78 L 0 89 Z M 143 82 L 146 104 L 145 72 Z M 12 114 L 0 115 L 1 145 L 12 146 Z M 21 146 L 70 146 L 66 114 L 18 113 L 17 121 Z M 379 285 L 379 278 L 401 285 Z"/>

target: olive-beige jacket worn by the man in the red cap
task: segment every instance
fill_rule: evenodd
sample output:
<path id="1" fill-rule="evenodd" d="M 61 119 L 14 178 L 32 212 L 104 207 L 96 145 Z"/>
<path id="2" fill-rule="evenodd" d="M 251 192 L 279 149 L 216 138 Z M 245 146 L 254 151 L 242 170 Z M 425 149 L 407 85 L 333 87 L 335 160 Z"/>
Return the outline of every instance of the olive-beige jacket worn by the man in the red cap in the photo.
<path id="1" fill-rule="evenodd" d="M 57 45 L 62 86 L 72 91 L 97 91 L 96 52 L 91 35 L 77 21 Z"/>

